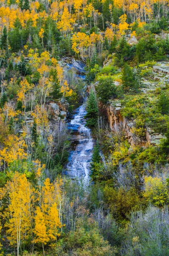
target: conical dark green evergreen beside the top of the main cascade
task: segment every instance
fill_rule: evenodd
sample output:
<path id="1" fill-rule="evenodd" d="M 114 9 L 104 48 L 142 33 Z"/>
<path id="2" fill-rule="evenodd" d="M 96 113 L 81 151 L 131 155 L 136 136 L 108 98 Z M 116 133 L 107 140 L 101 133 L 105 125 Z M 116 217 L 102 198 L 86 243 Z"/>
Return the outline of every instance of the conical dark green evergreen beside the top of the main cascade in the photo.
<path id="1" fill-rule="evenodd" d="M 87 118 L 86 125 L 88 127 L 94 127 L 97 122 L 99 109 L 97 105 L 96 96 L 93 90 L 90 91 L 89 98 L 87 99 L 86 111 L 87 111 L 87 114 L 85 116 Z"/>

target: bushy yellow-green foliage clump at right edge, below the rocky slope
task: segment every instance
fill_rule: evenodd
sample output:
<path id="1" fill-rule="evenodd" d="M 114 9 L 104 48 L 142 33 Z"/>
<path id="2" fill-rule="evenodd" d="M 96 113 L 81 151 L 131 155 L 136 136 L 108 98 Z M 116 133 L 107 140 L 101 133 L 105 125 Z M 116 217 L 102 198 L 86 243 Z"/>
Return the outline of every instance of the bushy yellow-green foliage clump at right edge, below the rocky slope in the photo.
<path id="1" fill-rule="evenodd" d="M 166 180 L 161 177 L 145 177 L 144 198 L 155 206 L 163 207 L 169 201 L 169 194 Z"/>

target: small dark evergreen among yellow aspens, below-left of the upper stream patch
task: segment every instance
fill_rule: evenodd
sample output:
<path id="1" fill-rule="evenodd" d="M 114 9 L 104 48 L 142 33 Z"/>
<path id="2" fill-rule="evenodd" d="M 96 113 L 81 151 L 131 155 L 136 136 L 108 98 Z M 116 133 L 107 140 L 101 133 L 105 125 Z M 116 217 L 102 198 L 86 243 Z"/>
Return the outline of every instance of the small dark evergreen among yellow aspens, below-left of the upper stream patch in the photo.
<path id="1" fill-rule="evenodd" d="M 52 86 L 52 91 L 50 95 L 54 100 L 60 99 L 63 95 L 63 93 L 60 92 L 60 83 L 59 79 L 57 76 L 57 71 L 54 69 L 51 69 L 50 71 L 50 77 L 52 77 L 53 80 L 53 86 Z"/>

